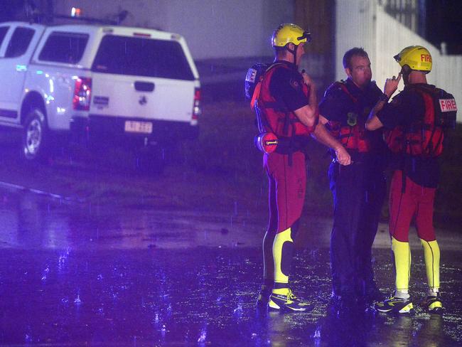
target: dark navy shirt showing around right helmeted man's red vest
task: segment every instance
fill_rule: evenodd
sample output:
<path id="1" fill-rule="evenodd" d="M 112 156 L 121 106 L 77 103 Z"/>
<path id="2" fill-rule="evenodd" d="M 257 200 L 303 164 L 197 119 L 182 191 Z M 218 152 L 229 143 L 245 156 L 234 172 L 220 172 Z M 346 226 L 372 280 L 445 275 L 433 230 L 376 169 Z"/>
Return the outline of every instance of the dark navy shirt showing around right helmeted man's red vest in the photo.
<path id="1" fill-rule="evenodd" d="M 407 127 L 413 122 L 419 122 L 424 119 L 424 114 L 424 99 L 407 85 L 393 98 L 392 102 L 385 104 L 383 109 L 377 113 L 377 117 L 385 128 L 393 129 L 398 125 Z M 392 166 L 392 169 L 404 169 L 406 176 L 420 186 L 427 188 L 438 186 L 439 161 L 437 158 L 397 154 L 393 156 Z"/>

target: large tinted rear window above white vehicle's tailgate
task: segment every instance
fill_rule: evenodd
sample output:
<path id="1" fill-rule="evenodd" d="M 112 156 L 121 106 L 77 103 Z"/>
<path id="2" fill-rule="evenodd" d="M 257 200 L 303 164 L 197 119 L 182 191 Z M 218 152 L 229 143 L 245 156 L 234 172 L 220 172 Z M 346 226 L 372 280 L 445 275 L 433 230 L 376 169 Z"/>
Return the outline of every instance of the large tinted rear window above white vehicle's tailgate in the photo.
<path id="1" fill-rule="evenodd" d="M 180 43 L 129 36 L 104 36 L 92 71 L 194 80 Z"/>

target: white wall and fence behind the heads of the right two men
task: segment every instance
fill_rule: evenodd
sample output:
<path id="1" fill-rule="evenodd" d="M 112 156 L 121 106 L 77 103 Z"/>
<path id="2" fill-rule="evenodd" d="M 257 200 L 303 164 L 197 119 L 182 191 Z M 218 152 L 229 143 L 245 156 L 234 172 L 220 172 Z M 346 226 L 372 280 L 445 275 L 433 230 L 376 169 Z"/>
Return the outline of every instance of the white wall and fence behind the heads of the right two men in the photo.
<path id="1" fill-rule="evenodd" d="M 438 48 L 385 13 L 377 0 L 337 0 L 336 16 L 336 79 L 345 78 L 341 63 L 345 50 L 362 46 L 370 56 L 373 78 L 383 88 L 385 79 L 400 70 L 393 56 L 404 47 L 420 45 L 426 47 L 433 58 L 428 82 L 451 92 L 459 107 L 462 105 L 461 55 L 441 55 Z M 403 87 L 401 82 L 398 89 Z M 457 121 L 462 122 L 461 111 L 457 117 Z"/>

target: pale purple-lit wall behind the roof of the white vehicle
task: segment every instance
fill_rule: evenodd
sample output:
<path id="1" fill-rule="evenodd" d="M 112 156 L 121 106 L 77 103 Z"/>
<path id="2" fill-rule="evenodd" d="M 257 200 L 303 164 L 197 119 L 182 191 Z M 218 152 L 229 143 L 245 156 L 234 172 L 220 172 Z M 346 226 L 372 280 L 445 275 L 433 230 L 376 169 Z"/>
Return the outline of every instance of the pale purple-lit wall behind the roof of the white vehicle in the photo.
<path id="1" fill-rule="evenodd" d="M 186 38 L 193 58 L 272 55 L 272 31 L 294 21 L 291 0 L 55 0 L 56 14 L 116 18 L 129 11 L 124 26 L 160 28 Z"/>

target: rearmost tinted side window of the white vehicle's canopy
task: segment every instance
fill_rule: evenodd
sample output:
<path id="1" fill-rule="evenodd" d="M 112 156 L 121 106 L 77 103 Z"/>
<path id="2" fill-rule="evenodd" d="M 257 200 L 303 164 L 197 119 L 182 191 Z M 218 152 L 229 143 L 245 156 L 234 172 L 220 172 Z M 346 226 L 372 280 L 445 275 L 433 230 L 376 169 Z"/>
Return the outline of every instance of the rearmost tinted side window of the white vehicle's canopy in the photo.
<path id="1" fill-rule="evenodd" d="M 55 31 L 48 36 L 38 59 L 57 63 L 78 63 L 82 59 L 87 41 L 86 33 Z"/>

